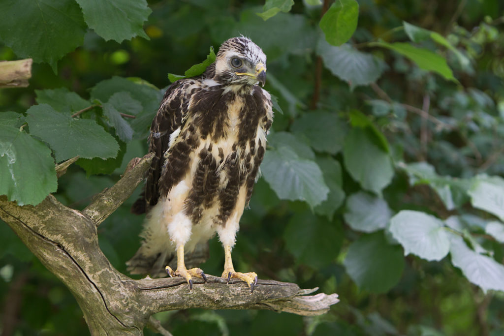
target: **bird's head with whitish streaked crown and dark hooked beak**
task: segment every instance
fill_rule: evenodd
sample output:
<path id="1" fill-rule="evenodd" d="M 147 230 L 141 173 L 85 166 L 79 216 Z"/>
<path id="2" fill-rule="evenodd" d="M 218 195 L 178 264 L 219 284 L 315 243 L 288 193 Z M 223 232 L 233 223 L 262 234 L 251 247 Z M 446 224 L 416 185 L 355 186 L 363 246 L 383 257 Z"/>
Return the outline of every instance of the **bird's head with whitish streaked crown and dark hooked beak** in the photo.
<path id="1" fill-rule="evenodd" d="M 224 86 L 254 86 L 266 82 L 266 55 L 249 38 L 233 37 L 222 43 L 215 59 L 215 79 Z"/>

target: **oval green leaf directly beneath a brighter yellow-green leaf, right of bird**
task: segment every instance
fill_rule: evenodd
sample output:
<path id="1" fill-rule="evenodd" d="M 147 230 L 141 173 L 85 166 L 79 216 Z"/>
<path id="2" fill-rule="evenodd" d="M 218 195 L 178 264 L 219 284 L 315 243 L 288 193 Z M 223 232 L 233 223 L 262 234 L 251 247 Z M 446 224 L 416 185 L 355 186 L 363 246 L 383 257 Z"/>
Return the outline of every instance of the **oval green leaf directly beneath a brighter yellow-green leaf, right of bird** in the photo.
<path id="1" fill-rule="evenodd" d="M 381 194 L 394 176 L 390 156 L 376 146 L 368 132 L 353 128 L 343 144 L 343 159 L 348 173 L 362 188 Z"/>

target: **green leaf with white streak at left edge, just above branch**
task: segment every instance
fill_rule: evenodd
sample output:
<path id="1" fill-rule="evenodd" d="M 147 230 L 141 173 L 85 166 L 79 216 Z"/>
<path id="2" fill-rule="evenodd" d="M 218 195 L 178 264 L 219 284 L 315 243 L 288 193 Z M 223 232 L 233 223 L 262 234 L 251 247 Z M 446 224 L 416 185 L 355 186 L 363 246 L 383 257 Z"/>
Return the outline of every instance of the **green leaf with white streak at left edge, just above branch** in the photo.
<path id="1" fill-rule="evenodd" d="M 51 151 L 19 128 L 0 124 L 0 195 L 18 205 L 37 205 L 56 191 Z"/>

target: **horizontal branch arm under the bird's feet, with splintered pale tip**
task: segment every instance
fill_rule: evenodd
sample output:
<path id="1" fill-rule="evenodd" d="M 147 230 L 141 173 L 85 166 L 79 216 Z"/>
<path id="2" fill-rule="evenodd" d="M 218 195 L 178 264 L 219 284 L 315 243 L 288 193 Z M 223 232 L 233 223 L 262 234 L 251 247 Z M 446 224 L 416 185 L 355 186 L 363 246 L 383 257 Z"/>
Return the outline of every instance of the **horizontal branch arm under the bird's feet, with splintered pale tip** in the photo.
<path id="1" fill-rule="evenodd" d="M 146 314 L 172 309 L 268 309 L 287 311 L 298 315 L 320 315 L 332 304 L 337 303 L 338 295 L 324 293 L 305 296 L 312 290 L 300 290 L 296 284 L 274 280 L 259 280 L 254 293 L 239 280 L 226 280 L 207 275 L 207 283 L 196 279 L 193 291 L 181 278 L 138 280 L 138 290 L 142 301 L 152 302 L 146 307 Z M 166 289 L 170 288 L 170 291 Z M 317 290 L 317 289 L 316 289 Z"/>

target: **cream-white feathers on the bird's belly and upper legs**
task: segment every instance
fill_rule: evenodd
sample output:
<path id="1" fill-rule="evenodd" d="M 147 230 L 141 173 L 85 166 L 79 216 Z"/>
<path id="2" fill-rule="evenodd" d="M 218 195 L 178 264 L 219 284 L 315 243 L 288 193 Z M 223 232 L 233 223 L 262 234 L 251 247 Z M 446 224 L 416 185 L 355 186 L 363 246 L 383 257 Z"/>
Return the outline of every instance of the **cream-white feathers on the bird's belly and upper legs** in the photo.
<path id="1" fill-rule="evenodd" d="M 233 101 L 233 104 L 235 106 L 229 108 L 229 111 L 240 111 L 243 100 L 236 99 Z M 205 209 L 200 223 L 192 223 L 191 219 L 184 213 L 184 202 L 190 192 L 193 176 L 198 167 L 199 160 L 197 158 L 199 153 L 212 144 L 212 154 L 214 157 L 218 157 L 219 148 L 223 150 L 224 158 L 232 154 L 233 144 L 236 144 L 238 140 L 238 123 L 239 116 L 230 113 L 226 138 L 221 138 L 217 141 L 212 141 L 210 138 L 202 140 L 199 147 L 191 153 L 190 171 L 184 176 L 182 181 L 169 191 L 165 199 L 160 199 L 151 209 L 146 218 L 142 234 L 144 238 L 146 238 L 144 244 L 147 245 L 143 247 L 149 249 L 151 253 L 174 251 L 177 244 L 185 245 L 185 251 L 191 252 L 198 243 L 208 241 L 216 232 L 218 232 L 219 238 L 223 244 L 230 246 L 234 245 L 236 232 L 239 229 L 239 220 L 245 206 L 245 186 L 240 188 L 235 210 L 224 226 L 216 225 L 214 221 L 219 214 L 218 202 L 214 202 L 211 208 Z M 178 135 L 179 132 L 180 129 L 177 129 L 176 135 Z M 176 141 L 175 137 L 170 137 L 170 146 Z M 256 148 L 258 148 L 259 143 L 261 143 L 262 146 L 266 144 L 266 132 L 261 127 L 258 127 L 255 143 Z M 240 149 L 238 148 L 237 150 L 239 151 Z M 245 150 L 250 150 L 248 143 L 246 144 Z M 224 162 L 218 167 L 218 170 L 222 168 Z M 227 183 L 227 181 L 221 180 L 220 183 L 222 185 L 223 183 Z"/>

